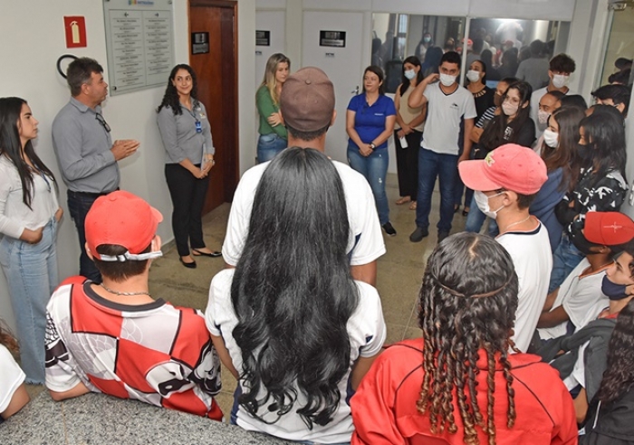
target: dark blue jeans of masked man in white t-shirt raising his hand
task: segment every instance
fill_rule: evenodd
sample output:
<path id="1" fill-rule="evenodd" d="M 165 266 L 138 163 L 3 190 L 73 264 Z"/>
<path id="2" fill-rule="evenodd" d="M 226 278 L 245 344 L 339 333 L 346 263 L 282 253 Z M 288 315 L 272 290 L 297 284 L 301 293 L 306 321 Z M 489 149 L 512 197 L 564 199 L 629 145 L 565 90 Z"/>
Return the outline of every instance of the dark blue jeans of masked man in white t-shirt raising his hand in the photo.
<path id="1" fill-rule="evenodd" d="M 418 150 L 418 206 L 416 208 L 416 226 L 429 227 L 431 194 L 436 185 L 440 185 L 440 221 L 438 232 L 450 232 L 454 219 L 454 185 L 458 174 L 458 156 L 441 155 L 427 148 Z"/>

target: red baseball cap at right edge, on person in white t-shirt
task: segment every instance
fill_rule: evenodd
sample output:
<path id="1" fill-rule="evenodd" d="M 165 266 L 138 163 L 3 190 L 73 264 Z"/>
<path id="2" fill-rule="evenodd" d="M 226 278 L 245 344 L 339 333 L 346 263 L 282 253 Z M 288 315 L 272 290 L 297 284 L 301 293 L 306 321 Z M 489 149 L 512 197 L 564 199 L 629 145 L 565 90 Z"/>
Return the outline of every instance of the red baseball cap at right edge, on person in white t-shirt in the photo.
<path id="1" fill-rule="evenodd" d="M 634 222 L 620 212 L 588 212 L 583 236 L 601 246 L 625 244 L 634 239 Z"/>

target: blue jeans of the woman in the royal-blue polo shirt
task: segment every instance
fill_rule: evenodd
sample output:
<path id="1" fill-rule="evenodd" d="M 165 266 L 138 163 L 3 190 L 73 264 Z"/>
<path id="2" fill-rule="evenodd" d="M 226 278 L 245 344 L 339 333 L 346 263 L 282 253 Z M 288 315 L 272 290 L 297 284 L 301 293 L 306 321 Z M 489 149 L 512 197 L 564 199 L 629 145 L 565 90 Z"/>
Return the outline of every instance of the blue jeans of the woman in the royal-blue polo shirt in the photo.
<path id="1" fill-rule="evenodd" d="M 364 175 L 370 184 L 374 202 L 377 204 L 379 223 L 389 223 L 388 194 L 385 193 L 385 178 L 388 175 L 389 154 L 387 148 L 377 148 L 370 156 L 362 156 L 359 148 L 348 145 L 348 164 Z"/>

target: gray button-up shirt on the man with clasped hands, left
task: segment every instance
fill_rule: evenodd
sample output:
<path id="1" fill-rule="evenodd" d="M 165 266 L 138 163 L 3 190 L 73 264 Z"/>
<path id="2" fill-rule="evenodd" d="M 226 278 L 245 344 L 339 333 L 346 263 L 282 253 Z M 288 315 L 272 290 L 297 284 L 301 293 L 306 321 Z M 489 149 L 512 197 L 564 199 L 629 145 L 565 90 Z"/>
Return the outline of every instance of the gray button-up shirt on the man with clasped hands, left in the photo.
<path id="1" fill-rule="evenodd" d="M 62 177 L 73 192 L 108 193 L 119 187 L 119 166 L 110 151 L 110 133 L 91 109 L 71 100 L 53 120 L 53 149 Z"/>

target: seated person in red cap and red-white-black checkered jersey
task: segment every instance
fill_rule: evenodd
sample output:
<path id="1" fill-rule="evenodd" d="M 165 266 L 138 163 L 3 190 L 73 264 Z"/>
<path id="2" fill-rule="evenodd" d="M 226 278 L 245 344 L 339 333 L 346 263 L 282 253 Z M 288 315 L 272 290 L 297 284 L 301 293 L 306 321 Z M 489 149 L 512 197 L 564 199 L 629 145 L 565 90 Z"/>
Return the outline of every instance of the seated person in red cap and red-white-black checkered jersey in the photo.
<path id="1" fill-rule="evenodd" d="M 220 361 L 205 319 L 149 294 L 149 266 L 162 255 L 162 219 L 129 192 L 92 204 L 86 252 L 103 282 L 74 280 L 49 301 L 46 387 L 53 400 L 107 393 L 222 420 L 214 399 Z"/>

